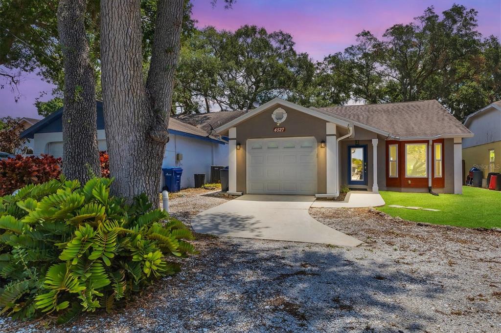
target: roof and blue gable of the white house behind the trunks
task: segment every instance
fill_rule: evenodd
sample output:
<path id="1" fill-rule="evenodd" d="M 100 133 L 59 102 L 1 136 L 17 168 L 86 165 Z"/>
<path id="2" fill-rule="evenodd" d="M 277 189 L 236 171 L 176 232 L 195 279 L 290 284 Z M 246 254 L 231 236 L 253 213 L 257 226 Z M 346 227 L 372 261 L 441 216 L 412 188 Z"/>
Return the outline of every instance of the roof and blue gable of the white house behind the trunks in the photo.
<path id="1" fill-rule="evenodd" d="M 96 101 L 97 106 L 97 129 L 104 129 L 104 117 L 103 117 L 103 102 Z M 44 119 L 37 122 L 35 125 L 29 127 L 21 133 L 21 137 L 33 138 L 35 133 L 38 132 L 60 132 L 62 131 L 62 121 L 61 117 L 63 114 L 63 108 L 61 107 L 54 113 L 45 117 Z M 185 136 L 190 136 L 194 138 L 205 139 L 217 143 L 226 143 L 226 141 L 209 136 L 208 132 L 190 125 L 189 123 L 183 122 L 174 117 L 169 119 L 169 131 L 174 134 L 180 134 Z"/>

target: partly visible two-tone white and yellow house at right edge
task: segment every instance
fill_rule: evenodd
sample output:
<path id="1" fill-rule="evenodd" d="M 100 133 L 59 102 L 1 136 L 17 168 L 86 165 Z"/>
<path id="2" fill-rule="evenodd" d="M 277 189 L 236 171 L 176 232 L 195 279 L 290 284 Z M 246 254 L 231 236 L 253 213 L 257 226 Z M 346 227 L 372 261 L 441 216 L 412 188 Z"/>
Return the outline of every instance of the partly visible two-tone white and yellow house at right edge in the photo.
<path id="1" fill-rule="evenodd" d="M 501 100 L 471 113 L 464 125 L 475 134 L 462 142 L 464 168 L 483 171 L 483 186 L 489 172 L 501 172 Z"/>

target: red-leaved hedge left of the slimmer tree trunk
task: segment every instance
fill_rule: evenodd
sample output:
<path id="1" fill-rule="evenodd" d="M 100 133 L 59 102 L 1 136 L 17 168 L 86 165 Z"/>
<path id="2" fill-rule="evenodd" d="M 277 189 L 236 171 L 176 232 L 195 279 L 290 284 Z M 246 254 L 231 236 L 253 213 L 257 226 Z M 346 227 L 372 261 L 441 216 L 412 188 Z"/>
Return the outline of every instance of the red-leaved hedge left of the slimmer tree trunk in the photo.
<path id="1" fill-rule="evenodd" d="M 59 177 L 61 158 L 17 155 L 0 160 L 0 196 L 11 194 L 28 184 L 39 184 Z"/>

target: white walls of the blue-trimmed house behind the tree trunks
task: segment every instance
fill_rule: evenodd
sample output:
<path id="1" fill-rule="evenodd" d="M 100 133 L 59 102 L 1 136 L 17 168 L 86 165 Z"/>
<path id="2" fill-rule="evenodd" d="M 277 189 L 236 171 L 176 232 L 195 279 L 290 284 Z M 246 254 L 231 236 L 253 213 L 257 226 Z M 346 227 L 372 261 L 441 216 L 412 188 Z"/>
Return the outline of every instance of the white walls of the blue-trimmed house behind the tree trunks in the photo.
<path id="1" fill-rule="evenodd" d="M 97 131 L 99 150 L 106 150 L 106 135 L 104 129 Z M 31 139 L 33 154 L 51 154 L 54 157 L 63 156 L 63 133 L 36 133 Z M 176 154 L 181 153 L 182 159 L 177 160 Z M 170 140 L 165 148 L 162 167 L 180 166 L 183 168 L 181 187 L 193 187 L 194 174 L 205 173 L 205 181 L 210 181 L 211 165 L 227 165 L 228 145 L 187 137 L 184 135 L 170 134 Z M 165 180 L 161 175 L 160 189 Z"/>

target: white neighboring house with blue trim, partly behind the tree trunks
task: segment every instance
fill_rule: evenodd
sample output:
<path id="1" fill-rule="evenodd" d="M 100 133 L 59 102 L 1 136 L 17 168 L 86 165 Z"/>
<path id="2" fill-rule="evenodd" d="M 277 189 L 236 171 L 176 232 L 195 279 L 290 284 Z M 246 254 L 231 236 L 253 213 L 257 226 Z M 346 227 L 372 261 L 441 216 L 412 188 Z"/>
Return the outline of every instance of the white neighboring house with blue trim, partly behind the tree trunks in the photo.
<path id="1" fill-rule="evenodd" d="M 46 153 L 55 157 L 63 156 L 62 112 L 60 108 L 22 133 L 23 137 L 32 140 L 35 155 Z M 106 150 L 101 101 L 97 102 L 97 129 L 99 149 Z M 205 180 L 210 181 L 210 165 L 224 165 L 227 162 L 227 141 L 215 138 L 203 129 L 171 117 L 169 134 L 162 166 L 183 168 L 181 187 L 194 186 L 194 173 L 205 173 Z M 163 183 L 162 176 L 162 186 Z"/>

